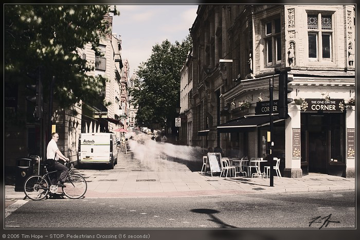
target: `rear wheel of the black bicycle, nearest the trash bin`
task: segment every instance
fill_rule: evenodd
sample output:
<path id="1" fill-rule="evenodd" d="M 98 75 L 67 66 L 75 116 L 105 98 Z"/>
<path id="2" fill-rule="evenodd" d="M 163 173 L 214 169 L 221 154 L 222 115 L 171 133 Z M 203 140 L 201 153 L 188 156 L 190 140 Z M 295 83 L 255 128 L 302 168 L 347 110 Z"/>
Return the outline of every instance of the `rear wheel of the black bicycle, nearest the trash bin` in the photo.
<path id="1" fill-rule="evenodd" d="M 49 193 L 49 182 L 40 175 L 28 177 L 24 183 L 24 193 L 31 200 L 44 199 Z"/>

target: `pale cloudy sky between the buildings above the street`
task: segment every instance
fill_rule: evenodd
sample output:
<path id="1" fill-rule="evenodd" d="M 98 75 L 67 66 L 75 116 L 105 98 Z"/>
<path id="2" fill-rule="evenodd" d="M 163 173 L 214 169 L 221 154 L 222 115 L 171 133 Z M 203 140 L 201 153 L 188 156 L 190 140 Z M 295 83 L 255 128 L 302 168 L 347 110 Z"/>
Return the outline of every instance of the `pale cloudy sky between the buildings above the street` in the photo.
<path id="1" fill-rule="evenodd" d="M 146 62 L 155 44 L 182 42 L 196 19 L 197 5 L 117 5 L 113 34 L 121 35 L 121 59 L 128 59 L 130 76 Z"/>

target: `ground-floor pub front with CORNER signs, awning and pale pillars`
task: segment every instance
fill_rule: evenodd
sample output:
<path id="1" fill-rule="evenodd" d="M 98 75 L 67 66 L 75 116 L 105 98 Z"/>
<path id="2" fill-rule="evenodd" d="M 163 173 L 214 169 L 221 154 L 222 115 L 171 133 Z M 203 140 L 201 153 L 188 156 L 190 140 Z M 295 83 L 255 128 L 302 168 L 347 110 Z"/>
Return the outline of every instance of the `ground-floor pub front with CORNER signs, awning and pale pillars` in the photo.
<path id="1" fill-rule="evenodd" d="M 286 119 L 278 116 L 277 90 L 274 90 L 273 104 L 273 156 L 280 158 L 282 176 L 302 177 L 309 173 L 323 173 L 354 177 L 355 106 L 350 100 L 354 92 L 347 91 L 349 85 L 354 87 L 353 79 L 317 77 L 316 82 L 310 85 L 309 78 L 289 76 L 293 78 L 289 85 L 294 90 L 288 97 L 295 101 L 288 104 Z M 277 82 L 278 76 L 274 76 L 275 86 Z M 239 88 L 245 84 L 239 84 Z M 260 93 L 246 91 L 238 96 L 235 93 L 241 91 L 233 89 L 224 94 L 224 99 L 232 99 L 240 102 L 240 105 L 244 100 L 238 99 L 249 96 L 259 96 L 257 99 L 262 100 L 262 96 L 268 96 L 268 89 L 262 89 Z M 228 142 L 227 156 L 263 157 L 268 160 L 269 105 L 269 101 L 254 101 L 248 109 L 237 106 L 231 109 L 230 104 L 229 112 L 232 116 L 243 116 L 217 126 L 218 132 Z M 269 163 L 262 163 L 261 170 L 263 165 Z"/>

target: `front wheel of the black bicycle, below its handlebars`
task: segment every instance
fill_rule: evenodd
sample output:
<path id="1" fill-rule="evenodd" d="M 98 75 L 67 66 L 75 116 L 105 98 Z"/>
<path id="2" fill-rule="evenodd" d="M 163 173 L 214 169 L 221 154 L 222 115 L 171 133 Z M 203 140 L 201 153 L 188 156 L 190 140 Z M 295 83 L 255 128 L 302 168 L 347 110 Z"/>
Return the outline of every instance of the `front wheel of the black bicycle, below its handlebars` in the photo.
<path id="1" fill-rule="evenodd" d="M 64 182 L 64 185 L 66 188 L 62 188 L 63 193 L 71 199 L 77 199 L 84 196 L 87 190 L 87 183 L 85 179 L 82 176 L 75 174 L 69 174 Z"/>

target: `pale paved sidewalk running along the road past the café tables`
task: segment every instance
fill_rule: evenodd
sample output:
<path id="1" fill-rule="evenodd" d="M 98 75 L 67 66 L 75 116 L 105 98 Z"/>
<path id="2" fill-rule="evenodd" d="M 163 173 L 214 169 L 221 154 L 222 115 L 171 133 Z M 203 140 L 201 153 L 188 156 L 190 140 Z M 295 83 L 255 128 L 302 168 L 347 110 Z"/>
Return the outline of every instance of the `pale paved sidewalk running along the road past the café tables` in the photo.
<path id="1" fill-rule="evenodd" d="M 355 191 L 355 179 L 310 173 L 302 178 L 220 177 L 188 171 L 112 172 L 77 170 L 87 181 L 86 198 L 188 197 L 287 192 Z M 61 191 L 61 190 L 60 190 Z M 23 199 L 14 185 L 5 186 L 5 199 Z"/>

